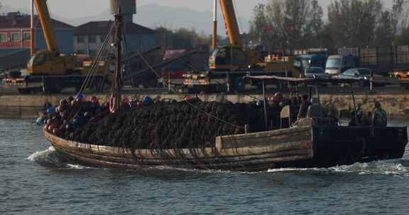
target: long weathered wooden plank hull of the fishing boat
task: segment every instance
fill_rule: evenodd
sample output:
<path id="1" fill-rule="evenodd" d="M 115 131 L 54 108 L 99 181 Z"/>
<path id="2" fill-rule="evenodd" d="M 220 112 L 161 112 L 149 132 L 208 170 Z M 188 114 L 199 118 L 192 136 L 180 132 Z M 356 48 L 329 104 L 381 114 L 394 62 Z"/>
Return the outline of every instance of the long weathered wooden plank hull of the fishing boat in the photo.
<path id="1" fill-rule="evenodd" d="M 215 147 L 200 149 L 116 148 L 68 141 L 48 132 L 45 132 L 45 137 L 62 156 L 77 163 L 102 168 L 137 169 L 171 166 L 262 171 L 283 167 L 305 168 L 349 164 L 371 156 L 371 153 L 373 153 L 371 156 L 373 159 L 401 157 L 408 142 L 406 129 L 390 130 L 391 134 L 394 134 L 393 131 L 398 134 L 398 131 L 404 130 L 401 140 L 397 140 L 399 143 L 392 147 L 379 144 L 380 148 L 372 142 L 366 142 L 372 138 L 368 128 L 351 132 L 351 129 L 346 127 L 298 127 L 271 132 L 219 136 Z M 350 134 L 332 140 L 330 134 L 339 131 L 349 131 Z M 363 131 L 369 136 L 369 138 L 363 137 L 364 147 L 362 147 L 362 139 L 351 137 Z M 381 149 L 383 149 L 383 157 L 376 151 Z"/>

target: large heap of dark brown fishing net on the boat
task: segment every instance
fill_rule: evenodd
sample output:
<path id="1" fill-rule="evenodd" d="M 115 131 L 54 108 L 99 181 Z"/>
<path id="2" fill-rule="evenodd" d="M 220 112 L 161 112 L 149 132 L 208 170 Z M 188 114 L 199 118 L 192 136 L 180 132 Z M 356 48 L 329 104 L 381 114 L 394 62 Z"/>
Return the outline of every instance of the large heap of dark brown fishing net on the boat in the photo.
<path id="1" fill-rule="evenodd" d="M 212 147 L 216 136 L 261 132 L 263 108 L 247 103 L 158 102 L 124 108 L 98 122 L 89 121 L 65 138 L 87 144 L 133 149 Z"/>

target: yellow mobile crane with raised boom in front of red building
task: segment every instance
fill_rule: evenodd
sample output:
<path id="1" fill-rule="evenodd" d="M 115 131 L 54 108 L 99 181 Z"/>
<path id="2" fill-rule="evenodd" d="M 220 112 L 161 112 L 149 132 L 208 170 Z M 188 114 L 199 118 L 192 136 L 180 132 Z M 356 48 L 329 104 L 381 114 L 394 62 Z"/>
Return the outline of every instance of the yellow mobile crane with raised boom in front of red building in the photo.
<path id="1" fill-rule="evenodd" d="M 100 82 L 95 89 L 103 88 L 109 84 L 109 62 L 97 60 L 96 65 L 77 65 L 75 55 L 64 55 L 60 53 L 53 26 L 51 24 L 50 12 L 45 0 L 34 0 L 38 16 L 47 44 L 47 50 L 39 50 L 28 61 L 25 84 L 18 88 L 20 93 L 59 93 L 64 88 L 80 88 L 84 79 L 89 79 L 89 70 L 93 70 L 91 76 Z M 83 62 L 86 63 L 86 62 Z"/>

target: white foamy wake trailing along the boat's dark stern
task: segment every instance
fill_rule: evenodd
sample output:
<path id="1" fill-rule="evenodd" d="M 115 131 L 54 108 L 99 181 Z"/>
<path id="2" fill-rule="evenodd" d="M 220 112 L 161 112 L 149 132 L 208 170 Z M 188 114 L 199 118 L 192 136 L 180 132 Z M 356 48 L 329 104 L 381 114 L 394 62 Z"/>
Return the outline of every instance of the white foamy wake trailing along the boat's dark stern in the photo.
<path id="1" fill-rule="evenodd" d="M 371 163 L 355 163 L 339 165 L 331 168 L 279 168 L 268 170 L 268 173 L 319 171 L 326 173 L 355 173 L 359 175 L 393 175 L 409 177 L 409 168 L 397 160 L 373 161 Z"/>

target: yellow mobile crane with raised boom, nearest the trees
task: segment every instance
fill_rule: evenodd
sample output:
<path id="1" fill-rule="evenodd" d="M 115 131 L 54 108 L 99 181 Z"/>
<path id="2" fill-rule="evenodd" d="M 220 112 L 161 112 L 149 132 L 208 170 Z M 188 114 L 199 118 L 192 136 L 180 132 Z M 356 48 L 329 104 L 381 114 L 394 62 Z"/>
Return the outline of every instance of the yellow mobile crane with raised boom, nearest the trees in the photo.
<path id="1" fill-rule="evenodd" d="M 283 52 L 246 50 L 240 35 L 232 1 L 219 1 L 227 27 L 229 45 L 217 47 L 214 41 L 209 58 L 209 70 L 191 71 L 185 75 L 184 85 L 192 91 L 245 91 L 247 85 L 261 89 L 259 81 L 243 79 L 247 75 L 275 75 L 302 77 L 302 59 Z M 215 28 L 215 27 L 214 27 Z M 217 37 L 216 34 L 213 35 Z M 273 82 L 280 87 L 280 83 Z"/>

